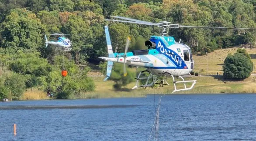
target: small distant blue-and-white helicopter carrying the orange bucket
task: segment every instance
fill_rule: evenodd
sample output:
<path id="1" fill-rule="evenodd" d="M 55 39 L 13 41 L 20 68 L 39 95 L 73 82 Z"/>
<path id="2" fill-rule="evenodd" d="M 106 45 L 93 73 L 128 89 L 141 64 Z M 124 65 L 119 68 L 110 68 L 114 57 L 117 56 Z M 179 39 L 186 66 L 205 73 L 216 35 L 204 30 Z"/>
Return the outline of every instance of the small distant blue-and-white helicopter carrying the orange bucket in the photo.
<path id="1" fill-rule="evenodd" d="M 45 40 L 46 40 L 45 47 L 48 47 L 48 44 L 52 44 L 56 47 L 55 50 L 63 50 L 63 51 L 72 50 L 71 41 L 69 39 L 67 39 L 66 37 L 64 37 L 64 35 L 69 35 L 69 34 L 54 33 L 54 34 L 47 34 L 47 35 L 55 35 L 55 36 L 59 36 L 59 37 L 57 37 L 57 41 L 48 41 L 46 34 L 45 34 Z"/>

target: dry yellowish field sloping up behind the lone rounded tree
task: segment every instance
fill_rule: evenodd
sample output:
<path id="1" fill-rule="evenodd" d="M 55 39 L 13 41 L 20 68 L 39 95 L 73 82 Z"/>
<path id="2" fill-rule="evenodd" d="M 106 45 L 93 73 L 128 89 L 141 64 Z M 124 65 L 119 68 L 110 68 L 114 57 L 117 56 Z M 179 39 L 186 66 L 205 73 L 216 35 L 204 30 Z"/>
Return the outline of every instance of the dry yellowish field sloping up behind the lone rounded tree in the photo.
<path id="1" fill-rule="evenodd" d="M 222 66 L 228 53 L 234 54 L 237 47 L 215 50 L 214 52 L 208 53 L 208 55 L 197 56 L 193 55 L 195 67 L 194 72 L 199 74 L 223 74 Z M 248 54 L 256 54 L 256 48 L 246 49 Z M 254 66 L 256 66 L 256 59 L 252 59 Z M 207 65 L 208 62 L 208 65 Z M 208 66 L 208 69 L 207 69 Z M 208 70 L 208 73 L 207 73 Z M 253 72 L 256 73 L 256 70 Z"/>

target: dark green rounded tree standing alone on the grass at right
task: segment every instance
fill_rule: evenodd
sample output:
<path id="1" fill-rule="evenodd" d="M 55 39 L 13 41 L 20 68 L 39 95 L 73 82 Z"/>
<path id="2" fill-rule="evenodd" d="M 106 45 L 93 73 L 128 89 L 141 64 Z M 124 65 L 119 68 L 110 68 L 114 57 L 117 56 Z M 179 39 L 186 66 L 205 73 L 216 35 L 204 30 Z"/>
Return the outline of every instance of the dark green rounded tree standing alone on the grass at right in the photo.
<path id="1" fill-rule="evenodd" d="M 238 49 L 232 55 L 228 54 L 223 66 L 224 77 L 230 79 L 245 79 L 253 71 L 253 62 L 244 49 Z"/>

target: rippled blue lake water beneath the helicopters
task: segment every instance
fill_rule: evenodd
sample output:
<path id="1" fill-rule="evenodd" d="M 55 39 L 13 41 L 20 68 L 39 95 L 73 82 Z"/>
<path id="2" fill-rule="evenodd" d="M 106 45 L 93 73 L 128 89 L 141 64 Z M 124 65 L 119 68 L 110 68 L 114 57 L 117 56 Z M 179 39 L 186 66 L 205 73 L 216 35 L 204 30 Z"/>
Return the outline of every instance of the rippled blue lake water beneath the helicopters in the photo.
<path id="1" fill-rule="evenodd" d="M 154 95 L 0 102 L 0 141 L 147 141 L 155 114 Z M 17 124 L 16 136 L 13 124 Z M 256 94 L 163 95 L 159 140 L 256 141 Z"/>

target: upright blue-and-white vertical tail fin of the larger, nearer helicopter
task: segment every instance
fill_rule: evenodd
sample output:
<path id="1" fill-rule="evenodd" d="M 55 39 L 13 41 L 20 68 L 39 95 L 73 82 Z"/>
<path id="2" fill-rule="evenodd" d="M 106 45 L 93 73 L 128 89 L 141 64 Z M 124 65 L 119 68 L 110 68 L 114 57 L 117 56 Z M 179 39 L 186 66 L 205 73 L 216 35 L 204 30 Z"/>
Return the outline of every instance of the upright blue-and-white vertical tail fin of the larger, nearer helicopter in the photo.
<path id="1" fill-rule="evenodd" d="M 113 50 L 112 50 L 112 45 L 111 45 L 111 40 L 110 40 L 107 25 L 105 26 L 105 34 L 106 34 L 106 40 L 107 40 L 108 57 L 114 58 L 114 54 L 113 54 Z M 107 61 L 107 77 L 104 79 L 104 81 L 106 81 L 110 77 L 112 67 L 113 67 L 113 62 L 112 61 Z"/>

